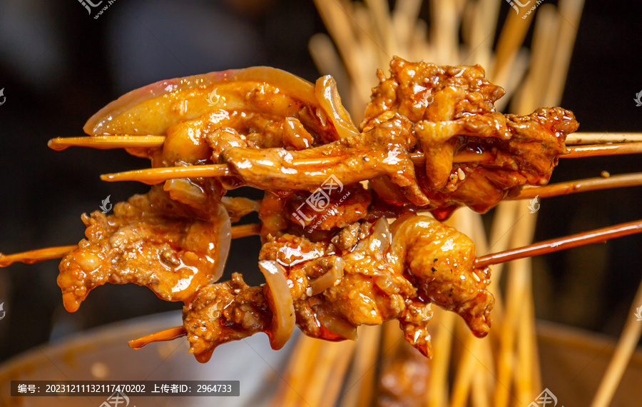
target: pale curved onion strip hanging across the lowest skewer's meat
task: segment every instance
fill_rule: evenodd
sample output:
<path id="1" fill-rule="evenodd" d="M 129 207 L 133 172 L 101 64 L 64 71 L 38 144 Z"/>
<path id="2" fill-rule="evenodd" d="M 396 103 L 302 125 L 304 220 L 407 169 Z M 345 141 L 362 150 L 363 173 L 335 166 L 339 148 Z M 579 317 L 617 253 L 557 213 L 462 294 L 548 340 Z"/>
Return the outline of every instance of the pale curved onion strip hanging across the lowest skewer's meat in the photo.
<path id="1" fill-rule="evenodd" d="M 277 351 L 290 339 L 297 322 L 294 311 L 294 303 L 290 295 L 290 288 L 287 287 L 285 271 L 279 263 L 272 260 L 259 261 L 259 268 L 269 288 L 270 296 L 267 303 L 272 309 L 272 331 L 267 334 L 270 337 L 270 346 Z M 271 298 L 270 298 L 271 297 Z"/>

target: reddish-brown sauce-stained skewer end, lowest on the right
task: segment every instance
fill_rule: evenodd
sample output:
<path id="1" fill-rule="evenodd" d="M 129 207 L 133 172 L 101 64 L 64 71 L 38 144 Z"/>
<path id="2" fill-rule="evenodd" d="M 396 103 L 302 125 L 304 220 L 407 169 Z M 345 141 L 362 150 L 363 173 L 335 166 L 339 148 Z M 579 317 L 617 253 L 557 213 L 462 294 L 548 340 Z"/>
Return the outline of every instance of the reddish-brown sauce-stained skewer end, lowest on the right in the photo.
<path id="1" fill-rule="evenodd" d="M 576 233 L 561 238 L 554 238 L 539 243 L 533 243 L 529 246 L 512 248 L 499 253 L 491 253 L 475 259 L 475 267 L 481 268 L 491 264 L 504 263 L 517 258 L 538 256 L 544 253 L 564 250 L 577 246 L 584 246 L 590 243 L 601 243 L 611 238 L 628 236 L 633 233 L 642 233 L 642 220 L 620 223 L 606 228 L 599 228 L 593 231 Z"/>

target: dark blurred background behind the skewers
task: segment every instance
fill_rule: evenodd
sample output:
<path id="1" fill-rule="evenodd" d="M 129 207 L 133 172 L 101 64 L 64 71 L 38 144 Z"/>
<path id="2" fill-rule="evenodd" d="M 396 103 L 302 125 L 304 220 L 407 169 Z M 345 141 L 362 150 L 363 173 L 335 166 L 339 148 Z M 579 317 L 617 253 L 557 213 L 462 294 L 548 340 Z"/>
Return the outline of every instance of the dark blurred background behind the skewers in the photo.
<path id="1" fill-rule="evenodd" d="M 428 19 L 425 3 L 422 16 Z M 509 10 L 504 1 L 502 10 L 502 16 Z M 642 130 L 642 107 L 633 101 L 642 91 L 640 11 L 630 3 L 586 2 L 562 101 L 581 131 Z M 148 190 L 98 179 L 148 166 L 125 151 L 56 152 L 46 146 L 55 136 L 81 136 L 85 121 L 121 94 L 161 79 L 254 65 L 310 81 L 320 75 L 307 51 L 310 36 L 325 32 L 312 1 L 118 0 L 94 16 L 75 0 L 0 3 L 3 253 L 76 243 L 83 238 L 81 213 L 99 210 L 107 196 L 115 203 Z M 551 182 L 641 169 L 636 156 L 562 160 Z M 249 189 L 233 194 L 260 197 Z M 641 202 L 642 188 L 545 199 L 536 240 L 642 218 Z M 260 282 L 259 248 L 256 237 L 234 241 L 225 277 L 242 271 L 246 281 Z M 537 317 L 617 336 L 642 277 L 640 253 L 638 235 L 535 258 Z M 86 328 L 180 309 L 145 287 L 107 285 L 67 313 L 56 285 L 57 264 L 0 269 L 6 311 L 0 361 Z"/>

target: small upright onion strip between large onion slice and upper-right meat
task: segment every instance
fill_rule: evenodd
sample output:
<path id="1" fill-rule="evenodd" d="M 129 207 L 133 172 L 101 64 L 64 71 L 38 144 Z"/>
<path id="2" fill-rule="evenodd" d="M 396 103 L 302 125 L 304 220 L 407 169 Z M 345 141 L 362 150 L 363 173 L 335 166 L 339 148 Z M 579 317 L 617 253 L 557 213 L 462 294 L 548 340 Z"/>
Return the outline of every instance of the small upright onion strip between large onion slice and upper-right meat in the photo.
<path id="1" fill-rule="evenodd" d="M 342 139 L 359 134 L 357 127 L 352 123 L 350 114 L 341 103 L 341 96 L 337 91 L 337 83 L 330 75 L 317 79 L 315 95 L 324 113 L 335 125 L 337 133 Z"/>

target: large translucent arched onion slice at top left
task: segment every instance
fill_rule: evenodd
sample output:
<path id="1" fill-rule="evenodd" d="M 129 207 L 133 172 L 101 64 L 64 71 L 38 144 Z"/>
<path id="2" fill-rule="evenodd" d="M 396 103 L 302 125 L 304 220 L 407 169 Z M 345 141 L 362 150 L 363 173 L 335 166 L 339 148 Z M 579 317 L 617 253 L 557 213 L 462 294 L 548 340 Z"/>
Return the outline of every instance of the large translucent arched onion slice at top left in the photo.
<path id="1" fill-rule="evenodd" d="M 103 107 L 91 116 L 83 130 L 90 136 L 165 134 L 172 124 L 194 119 L 211 109 L 208 104 L 210 93 L 220 86 L 229 86 L 234 81 L 268 83 L 293 99 L 298 99 L 310 106 L 318 106 L 315 89 L 310 82 L 280 69 L 256 66 L 168 79 L 143 86 Z M 230 89 L 236 90 L 235 86 Z M 225 91 L 220 91 L 218 96 L 225 99 L 228 95 Z M 142 104 L 146 105 L 142 106 Z M 275 111 L 270 113 L 279 114 Z M 287 114 L 287 116 L 292 115 Z"/>

